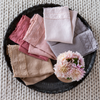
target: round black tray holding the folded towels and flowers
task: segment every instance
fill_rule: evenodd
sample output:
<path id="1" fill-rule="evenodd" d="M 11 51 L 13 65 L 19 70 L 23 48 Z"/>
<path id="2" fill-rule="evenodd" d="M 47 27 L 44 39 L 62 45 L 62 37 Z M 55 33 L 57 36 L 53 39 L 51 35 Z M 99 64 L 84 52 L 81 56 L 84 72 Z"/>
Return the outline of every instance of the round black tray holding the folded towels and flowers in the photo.
<path id="1" fill-rule="evenodd" d="M 6 35 L 5 35 L 5 38 L 4 38 L 4 44 L 3 44 L 5 60 L 7 62 L 8 67 L 10 68 L 11 72 L 12 72 L 12 68 L 11 68 L 11 64 L 10 64 L 10 58 L 6 54 L 6 49 L 7 49 L 8 44 L 14 45 L 16 43 L 11 41 L 8 37 L 13 32 L 13 30 L 15 29 L 16 24 L 19 22 L 22 15 L 26 15 L 26 16 L 31 18 L 34 14 L 38 13 L 39 15 L 43 16 L 43 8 L 44 7 L 56 7 L 56 6 L 60 6 L 60 5 L 58 5 L 58 4 L 41 4 L 41 5 L 33 6 L 31 8 L 28 8 L 27 10 L 23 11 L 22 13 L 20 13 L 11 22 L 11 24 L 9 25 L 9 27 L 7 29 L 7 32 L 6 32 Z M 79 14 L 78 14 L 77 17 L 79 17 L 81 19 L 81 21 L 88 28 L 90 28 L 89 24 L 86 22 L 86 20 L 83 17 L 81 17 Z M 63 83 L 63 82 L 59 81 L 56 78 L 55 75 L 52 75 L 49 78 L 47 78 L 47 79 L 45 79 L 45 80 L 43 80 L 43 81 L 41 81 L 41 82 L 39 82 L 35 85 L 30 85 L 30 86 L 27 86 L 27 87 L 29 87 L 31 89 L 35 89 L 35 90 L 40 91 L 40 92 L 44 92 L 44 93 L 61 93 L 61 92 L 64 92 L 64 91 L 68 91 L 68 90 L 76 87 L 78 84 L 80 84 L 86 78 L 86 76 L 89 74 L 89 72 L 91 71 L 91 69 L 93 67 L 95 57 L 96 57 L 96 51 L 84 57 L 85 58 L 86 74 L 85 74 L 84 78 L 82 80 L 78 81 L 78 82 L 75 81 L 75 82 L 71 82 L 71 83 Z M 52 60 L 53 64 L 55 62 L 56 61 Z M 17 80 L 24 84 L 24 82 L 20 78 L 17 78 Z"/>

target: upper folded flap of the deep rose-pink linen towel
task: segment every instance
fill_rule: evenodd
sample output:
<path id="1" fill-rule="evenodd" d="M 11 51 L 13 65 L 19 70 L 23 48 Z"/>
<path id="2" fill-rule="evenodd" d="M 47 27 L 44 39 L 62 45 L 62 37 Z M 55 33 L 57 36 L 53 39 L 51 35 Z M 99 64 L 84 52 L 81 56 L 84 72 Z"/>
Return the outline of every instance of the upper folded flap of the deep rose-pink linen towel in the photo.
<path id="1" fill-rule="evenodd" d="M 20 21 L 18 22 L 15 30 L 9 36 L 9 38 L 15 43 L 21 45 L 24 42 L 23 37 L 26 34 L 29 25 L 30 25 L 30 18 L 27 17 L 26 15 L 23 15 Z"/>

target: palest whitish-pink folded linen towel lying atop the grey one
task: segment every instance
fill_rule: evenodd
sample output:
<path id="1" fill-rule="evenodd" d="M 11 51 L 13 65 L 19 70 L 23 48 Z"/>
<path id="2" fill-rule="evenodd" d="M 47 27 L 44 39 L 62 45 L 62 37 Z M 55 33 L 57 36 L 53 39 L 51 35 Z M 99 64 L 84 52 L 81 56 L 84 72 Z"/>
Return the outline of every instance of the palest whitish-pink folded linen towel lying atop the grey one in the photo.
<path id="1" fill-rule="evenodd" d="M 45 40 L 73 43 L 77 11 L 68 7 L 44 8 Z"/>

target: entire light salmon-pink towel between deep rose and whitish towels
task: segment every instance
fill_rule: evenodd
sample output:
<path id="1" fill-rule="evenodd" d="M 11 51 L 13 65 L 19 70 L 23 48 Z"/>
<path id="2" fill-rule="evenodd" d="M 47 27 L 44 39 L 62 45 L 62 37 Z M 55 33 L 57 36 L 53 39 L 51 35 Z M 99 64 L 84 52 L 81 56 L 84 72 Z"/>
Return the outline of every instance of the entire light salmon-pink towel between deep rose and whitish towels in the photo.
<path id="1" fill-rule="evenodd" d="M 28 52 L 36 55 L 45 56 L 51 59 L 56 59 L 55 55 L 51 51 L 45 38 L 44 21 L 43 18 L 35 14 L 30 20 L 31 24 L 24 36 L 23 40 L 28 42 Z"/>

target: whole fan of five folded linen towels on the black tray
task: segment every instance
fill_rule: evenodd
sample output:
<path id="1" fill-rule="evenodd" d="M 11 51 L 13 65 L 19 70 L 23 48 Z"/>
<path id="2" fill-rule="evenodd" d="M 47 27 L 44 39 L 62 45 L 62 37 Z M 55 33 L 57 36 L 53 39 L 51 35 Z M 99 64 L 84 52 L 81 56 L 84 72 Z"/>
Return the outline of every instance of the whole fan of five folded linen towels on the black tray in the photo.
<path id="1" fill-rule="evenodd" d="M 50 59 L 65 51 L 82 56 L 97 49 L 93 33 L 68 7 L 44 8 L 43 18 L 23 15 L 9 36 L 18 45 L 8 45 L 14 77 L 33 85 L 54 73 Z"/>

